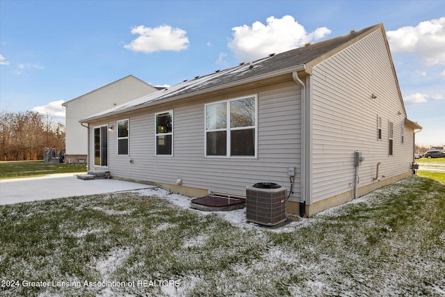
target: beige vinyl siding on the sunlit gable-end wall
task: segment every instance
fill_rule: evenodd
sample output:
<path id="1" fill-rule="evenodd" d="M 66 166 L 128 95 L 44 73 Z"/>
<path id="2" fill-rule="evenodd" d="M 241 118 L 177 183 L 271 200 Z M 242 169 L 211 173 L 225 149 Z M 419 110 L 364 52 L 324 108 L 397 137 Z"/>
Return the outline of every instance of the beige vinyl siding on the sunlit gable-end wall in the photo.
<path id="1" fill-rule="evenodd" d="M 353 153 L 359 166 L 359 186 L 380 176 L 410 170 L 412 130 L 394 129 L 394 155 L 389 156 L 388 122 L 401 127 L 403 113 L 396 80 L 382 31 L 378 30 L 314 67 L 313 77 L 313 201 L 353 189 Z M 377 98 L 371 99 L 371 94 Z M 377 117 L 382 117 L 382 140 L 377 140 Z"/>

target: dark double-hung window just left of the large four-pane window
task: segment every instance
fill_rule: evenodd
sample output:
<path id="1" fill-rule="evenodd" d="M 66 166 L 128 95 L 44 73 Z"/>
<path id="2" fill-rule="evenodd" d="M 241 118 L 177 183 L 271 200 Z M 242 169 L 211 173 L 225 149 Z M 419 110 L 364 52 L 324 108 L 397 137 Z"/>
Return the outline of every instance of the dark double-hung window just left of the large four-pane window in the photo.
<path id="1" fill-rule="evenodd" d="M 156 113 L 156 156 L 173 155 L 173 111 Z"/>

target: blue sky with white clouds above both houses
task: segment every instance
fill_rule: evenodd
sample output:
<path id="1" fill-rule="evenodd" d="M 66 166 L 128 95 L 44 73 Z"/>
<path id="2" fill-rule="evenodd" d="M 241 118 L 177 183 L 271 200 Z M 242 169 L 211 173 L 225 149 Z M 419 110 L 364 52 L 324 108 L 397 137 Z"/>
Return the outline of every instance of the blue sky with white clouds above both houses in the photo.
<path id="1" fill-rule="evenodd" d="M 62 102 L 129 74 L 171 86 L 378 23 L 416 142 L 445 145 L 445 1 L 0 0 L 0 108 L 63 122 Z"/>

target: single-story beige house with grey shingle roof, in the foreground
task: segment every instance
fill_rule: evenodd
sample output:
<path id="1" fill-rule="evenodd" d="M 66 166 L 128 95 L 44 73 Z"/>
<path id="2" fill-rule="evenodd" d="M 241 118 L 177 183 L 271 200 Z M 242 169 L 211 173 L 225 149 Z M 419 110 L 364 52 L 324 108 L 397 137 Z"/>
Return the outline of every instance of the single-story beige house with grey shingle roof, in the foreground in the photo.
<path id="1" fill-rule="evenodd" d="M 382 24 L 183 81 L 81 120 L 89 168 L 195 197 L 273 182 L 312 216 L 412 175 Z"/>

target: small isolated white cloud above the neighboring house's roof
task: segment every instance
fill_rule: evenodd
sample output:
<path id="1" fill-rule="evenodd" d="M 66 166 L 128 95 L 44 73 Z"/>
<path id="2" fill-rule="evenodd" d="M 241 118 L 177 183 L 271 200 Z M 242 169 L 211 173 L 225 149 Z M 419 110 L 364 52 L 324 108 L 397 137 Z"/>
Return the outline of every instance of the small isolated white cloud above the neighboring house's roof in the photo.
<path id="1" fill-rule="evenodd" d="M 181 51 L 188 48 L 187 32 L 168 25 L 156 28 L 137 26 L 131 29 L 131 34 L 139 35 L 129 45 L 124 45 L 124 48 L 131 51 L 149 54 L 154 51 Z"/>

